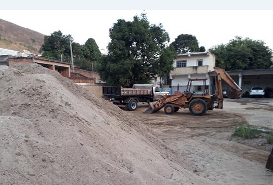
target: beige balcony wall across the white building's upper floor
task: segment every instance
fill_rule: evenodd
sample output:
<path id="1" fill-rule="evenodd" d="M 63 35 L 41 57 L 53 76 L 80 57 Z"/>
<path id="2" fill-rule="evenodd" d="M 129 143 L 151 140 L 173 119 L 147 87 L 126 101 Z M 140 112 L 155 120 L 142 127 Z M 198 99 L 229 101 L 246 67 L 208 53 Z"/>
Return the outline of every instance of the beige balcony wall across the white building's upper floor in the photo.
<path id="1" fill-rule="evenodd" d="M 190 75 L 190 74 L 203 74 L 209 72 L 209 66 L 191 66 L 191 67 L 176 67 L 170 71 L 170 76 L 176 75 Z"/>

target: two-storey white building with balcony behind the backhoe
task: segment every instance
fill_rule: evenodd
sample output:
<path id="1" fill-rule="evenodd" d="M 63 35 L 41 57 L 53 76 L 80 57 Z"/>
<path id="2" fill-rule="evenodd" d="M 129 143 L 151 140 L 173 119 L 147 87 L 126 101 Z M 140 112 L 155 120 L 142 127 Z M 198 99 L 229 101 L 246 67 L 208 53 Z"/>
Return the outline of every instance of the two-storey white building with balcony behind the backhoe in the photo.
<path id="1" fill-rule="evenodd" d="M 174 60 L 174 70 L 170 71 L 169 78 L 172 79 L 172 91 L 174 93 L 184 92 L 189 79 L 207 79 L 206 85 L 210 90 L 209 71 L 214 71 L 215 56 L 210 52 L 194 52 L 179 54 Z M 202 81 L 193 81 L 191 90 L 203 91 Z"/>

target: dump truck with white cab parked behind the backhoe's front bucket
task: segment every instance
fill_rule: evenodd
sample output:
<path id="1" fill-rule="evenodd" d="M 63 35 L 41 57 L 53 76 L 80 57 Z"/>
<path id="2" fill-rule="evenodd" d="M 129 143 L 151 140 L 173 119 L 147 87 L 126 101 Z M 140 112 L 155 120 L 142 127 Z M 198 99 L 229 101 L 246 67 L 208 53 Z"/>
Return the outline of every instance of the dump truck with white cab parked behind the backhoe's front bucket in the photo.
<path id="1" fill-rule="evenodd" d="M 157 84 L 134 84 L 132 88 L 103 86 L 104 99 L 112 101 L 120 108 L 126 107 L 131 111 L 138 108 L 138 102 L 157 101 L 162 95 L 166 94 L 169 92 L 162 91 Z"/>

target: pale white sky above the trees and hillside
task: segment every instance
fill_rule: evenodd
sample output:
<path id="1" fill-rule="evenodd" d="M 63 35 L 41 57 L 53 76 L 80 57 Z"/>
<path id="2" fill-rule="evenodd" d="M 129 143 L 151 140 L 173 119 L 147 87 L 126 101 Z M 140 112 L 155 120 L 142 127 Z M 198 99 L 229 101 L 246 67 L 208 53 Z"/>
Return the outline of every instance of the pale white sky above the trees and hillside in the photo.
<path id="1" fill-rule="evenodd" d="M 118 19 L 131 21 L 133 16 L 147 13 L 150 23 L 162 23 L 170 42 L 179 34 L 195 35 L 199 46 L 209 49 L 226 44 L 236 35 L 262 40 L 273 49 L 273 11 L 209 11 L 209 10 L 130 10 L 130 11 L 0 11 L 0 18 L 43 34 L 60 30 L 84 44 L 95 39 L 100 51 L 107 52 L 109 29 Z"/>

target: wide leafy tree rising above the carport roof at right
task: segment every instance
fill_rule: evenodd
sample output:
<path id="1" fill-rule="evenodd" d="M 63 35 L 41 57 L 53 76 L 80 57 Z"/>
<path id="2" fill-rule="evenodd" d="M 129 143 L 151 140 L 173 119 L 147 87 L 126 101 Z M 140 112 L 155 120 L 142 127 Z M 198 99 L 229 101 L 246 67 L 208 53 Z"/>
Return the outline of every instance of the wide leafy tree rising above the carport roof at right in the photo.
<path id="1" fill-rule="evenodd" d="M 210 49 L 216 56 L 216 66 L 226 70 L 260 69 L 272 65 L 271 49 L 263 41 L 236 36 L 227 44 Z"/>

